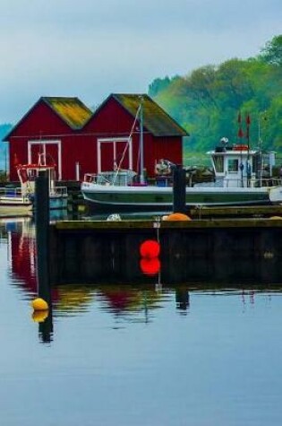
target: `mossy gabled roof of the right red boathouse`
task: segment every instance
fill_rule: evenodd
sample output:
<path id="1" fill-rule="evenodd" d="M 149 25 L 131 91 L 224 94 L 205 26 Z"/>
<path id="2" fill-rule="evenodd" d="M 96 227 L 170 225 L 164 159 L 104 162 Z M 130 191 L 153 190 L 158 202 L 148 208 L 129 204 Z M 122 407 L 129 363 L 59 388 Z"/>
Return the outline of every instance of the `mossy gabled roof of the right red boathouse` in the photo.
<path id="1" fill-rule="evenodd" d="M 112 93 L 107 100 L 114 98 L 124 107 L 132 117 L 140 106 L 143 105 L 143 126 L 154 136 L 188 136 L 188 133 L 182 126 L 179 126 L 175 119 L 170 117 L 167 112 L 160 108 L 158 103 L 147 94 L 121 94 Z M 98 108 L 101 109 L 107 103 L 107 100 Z M 95 113 L 94 113 L 95 115 Z"/>

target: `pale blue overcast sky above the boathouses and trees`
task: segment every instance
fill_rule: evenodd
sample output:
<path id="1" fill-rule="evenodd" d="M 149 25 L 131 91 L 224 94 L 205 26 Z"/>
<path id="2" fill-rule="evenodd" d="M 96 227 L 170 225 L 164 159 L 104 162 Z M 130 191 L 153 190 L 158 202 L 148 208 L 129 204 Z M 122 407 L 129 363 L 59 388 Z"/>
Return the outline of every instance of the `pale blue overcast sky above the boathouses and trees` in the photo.
<path id="1" fill-rule="evenodd" d="M 282 33 L 281 0 L 1 0 L 0 123 L 40 96 L 98 105 L 157 77 L 258 55 Z"/>

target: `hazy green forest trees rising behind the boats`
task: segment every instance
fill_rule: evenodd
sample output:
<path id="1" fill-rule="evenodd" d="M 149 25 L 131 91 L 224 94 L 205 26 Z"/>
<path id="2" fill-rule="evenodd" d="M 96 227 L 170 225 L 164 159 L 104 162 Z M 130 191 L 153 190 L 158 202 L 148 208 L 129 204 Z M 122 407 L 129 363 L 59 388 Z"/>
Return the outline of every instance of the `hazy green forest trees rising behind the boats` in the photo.
<path id="1" fill-rule="evenodd" d="M 185 151 L 206 152 L 223 136 L 245 143 L 249 115 L 250 145 L 282 152 L 282 35 L 268 41 L 257 57 L 157 78 L 149 95 L 190 134 Z"/>

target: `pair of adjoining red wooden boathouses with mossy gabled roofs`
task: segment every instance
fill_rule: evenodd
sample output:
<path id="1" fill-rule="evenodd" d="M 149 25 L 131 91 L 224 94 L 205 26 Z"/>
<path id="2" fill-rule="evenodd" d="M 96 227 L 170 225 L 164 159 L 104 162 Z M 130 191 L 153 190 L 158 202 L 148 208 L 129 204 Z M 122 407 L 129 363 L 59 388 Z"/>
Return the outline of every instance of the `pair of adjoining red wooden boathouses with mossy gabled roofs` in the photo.
<path id="1" fill-rule="evenodd" d="M 16 164 L 37 162 L 38 153 L 56 163 L 58 180 L 79 180 L 115 165 L 138 171 L 141 102 L 148 176 L 154 176 L 160 158 L 182 164 L 187 133 L 147 95 L 111 94 L 94 113 L 77 98 L 43 97 L 5 137 L 10 179 L 17 180 Z"/>

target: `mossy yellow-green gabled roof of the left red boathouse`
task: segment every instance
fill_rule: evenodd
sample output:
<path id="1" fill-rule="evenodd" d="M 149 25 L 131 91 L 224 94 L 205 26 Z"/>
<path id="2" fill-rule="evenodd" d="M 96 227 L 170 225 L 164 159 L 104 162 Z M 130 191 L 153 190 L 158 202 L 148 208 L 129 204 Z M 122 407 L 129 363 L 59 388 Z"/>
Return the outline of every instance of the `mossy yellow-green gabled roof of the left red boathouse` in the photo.
<path id="1" fill-rule="evenodd" d="M 60 117 L 67 126 L 73 130 L 80 129 L 86 121 L 91 117 L 92 111 L 86 107 L 78 98 L 67 97 L 41 97 L 35 105 L 21 118 L 21 120 L 13 126 L 12 130 L 5 135 L 4 141 L 8 141 L 13 131 L 21 125 L 21 122 L 30 115 L 40 102 L 44 102 L 52 109 L 58 117 Z"/>

